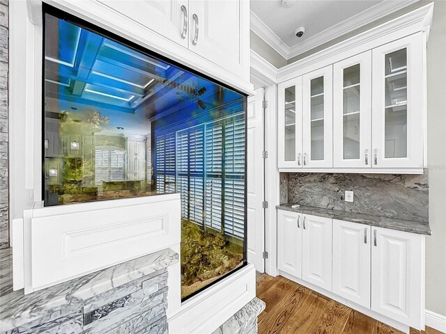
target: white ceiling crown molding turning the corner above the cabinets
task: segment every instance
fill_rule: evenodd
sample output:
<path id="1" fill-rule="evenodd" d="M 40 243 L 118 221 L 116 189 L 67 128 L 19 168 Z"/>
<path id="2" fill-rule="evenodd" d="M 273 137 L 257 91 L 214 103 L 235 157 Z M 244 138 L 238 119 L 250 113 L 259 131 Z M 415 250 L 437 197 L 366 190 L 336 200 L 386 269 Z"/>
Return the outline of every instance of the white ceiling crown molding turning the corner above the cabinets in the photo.
<path id="1" fill-rule="evenodd" d="M 367 10 L 363 10 L 357 15 L 353 15 L 348 19 L 331 26 L 330 29 L 325 29 L 316 35 L 302 40 L 296 45 L 289 47 L 279 36 L 270 29 L 252 10 L 251 10 L 251 30 L 259 35 L 272 49 L 274 49 L 280 56 L 287 61 L 290 58 L 303 54 L 315 47 L 323 45 L 330 40 L 350 33 L 355 29 L 360 28 L 366 24 L 376 21 L 386 15 L 390 15 L 401 8 L 407 7 L 419 0 L 402 0 L 402 1 L 382 1 Z"/>

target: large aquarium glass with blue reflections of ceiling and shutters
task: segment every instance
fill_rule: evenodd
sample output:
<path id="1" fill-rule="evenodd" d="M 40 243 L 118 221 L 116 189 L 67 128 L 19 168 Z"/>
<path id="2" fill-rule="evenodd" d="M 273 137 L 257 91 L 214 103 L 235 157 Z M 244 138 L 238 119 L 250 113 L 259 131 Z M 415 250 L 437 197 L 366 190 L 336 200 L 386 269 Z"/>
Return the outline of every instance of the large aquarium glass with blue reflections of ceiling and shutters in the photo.
<path id="1" fill-rule="evenodd" d="M 44 19 L 45 206 L 180 193 L 182 298 L 243 267 L 246 96 Z"/>

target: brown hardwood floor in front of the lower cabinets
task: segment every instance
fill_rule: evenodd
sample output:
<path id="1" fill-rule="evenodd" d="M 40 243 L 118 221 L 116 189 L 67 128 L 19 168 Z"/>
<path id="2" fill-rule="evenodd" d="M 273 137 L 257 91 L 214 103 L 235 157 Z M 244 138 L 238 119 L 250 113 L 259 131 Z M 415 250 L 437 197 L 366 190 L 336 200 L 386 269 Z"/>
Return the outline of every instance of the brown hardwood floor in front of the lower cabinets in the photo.
<path id="1" fill-rule="evenodd" d="M 402 334 L 367 315 L 282 276 L 264 276 L 257 296 L 266 303 L 259 334 Z M 432 328 L 410 334 L 443 334 Z"/>

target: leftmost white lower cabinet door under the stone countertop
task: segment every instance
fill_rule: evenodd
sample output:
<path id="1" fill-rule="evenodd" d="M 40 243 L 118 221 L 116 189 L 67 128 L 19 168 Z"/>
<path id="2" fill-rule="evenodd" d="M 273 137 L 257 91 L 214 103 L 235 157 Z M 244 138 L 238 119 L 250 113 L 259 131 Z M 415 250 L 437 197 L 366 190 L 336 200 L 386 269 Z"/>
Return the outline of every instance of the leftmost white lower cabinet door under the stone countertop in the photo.
<path id="1" fill-rule="evenodd" d="M 277 268 L 302 278 L 302 214 L 277 211 Z"/>

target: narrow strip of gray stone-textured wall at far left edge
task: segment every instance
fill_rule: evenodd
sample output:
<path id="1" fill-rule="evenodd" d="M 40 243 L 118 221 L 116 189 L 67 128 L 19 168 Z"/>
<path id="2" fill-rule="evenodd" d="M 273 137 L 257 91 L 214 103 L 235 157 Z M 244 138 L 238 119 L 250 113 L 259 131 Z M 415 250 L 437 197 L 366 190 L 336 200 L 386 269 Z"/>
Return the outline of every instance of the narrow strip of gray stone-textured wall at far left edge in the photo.
<path id="1" fill-rule="evenodd" d="M 0 0 L 0 248 L 9 245 L 8 35 L 8 0 Z"/>

